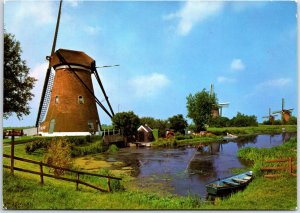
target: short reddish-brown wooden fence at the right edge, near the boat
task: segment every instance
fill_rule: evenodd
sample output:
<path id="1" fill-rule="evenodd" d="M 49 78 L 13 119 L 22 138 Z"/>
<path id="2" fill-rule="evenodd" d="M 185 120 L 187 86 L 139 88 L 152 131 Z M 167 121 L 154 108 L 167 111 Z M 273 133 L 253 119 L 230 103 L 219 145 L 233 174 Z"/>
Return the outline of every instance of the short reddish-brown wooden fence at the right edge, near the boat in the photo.
<path id="1" fill-rule="evenodd" d="M 293 161 L 297 161 L 297 158 L 289 157 L 287 159 L 277 159 L 277 160 L 266 160 L 264 162 L 267 163 L 286 163 L 287 165 L 283 166 L 270 166 L 270 167 L 262 167 L 262 171 L 286 171 L 292 176 L 297 176 L 294 171 L 297 169 L 297 165 L 293 165 Z M 273 178 L 273 177 L 279 177 L 282 176 L 282 174 L 266 174 L 264 177 Z"/>

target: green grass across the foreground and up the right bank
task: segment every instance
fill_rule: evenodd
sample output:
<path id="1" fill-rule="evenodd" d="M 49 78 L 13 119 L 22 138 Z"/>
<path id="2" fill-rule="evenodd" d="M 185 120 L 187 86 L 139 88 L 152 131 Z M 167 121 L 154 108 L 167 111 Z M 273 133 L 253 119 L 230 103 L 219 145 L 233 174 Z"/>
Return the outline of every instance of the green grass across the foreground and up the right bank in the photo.
<path id="1" fill-rule="evenodd" d="M 265 128 L 265 127 L 264 127 Z M 285 127 L 287 128 L 287 127 Z M 291 129 L 293 130 L 294 127 Z M 275 129 L 275 128 L 274 128 Z M 272 131 L 274 130 L 272 129 Z M 277 128 L 279 131 L 279 128 Z M 223 131 L 223 130 L 222 130 Z M 250 131 L 250 130 L 249 130 Z M 257 131 L 257 130 L 255 130 Z M 232 132 L 231 132 L 232 133 Z M 43 149 L 29 155 L 25 145 L 16 145 L 16 156 L 43 160 Z M 9 154 L 10 147 L 4 147 L 3 152 Z M 123 177 L 122 185 L 125 191 L 102 193 L 81 186 L 76 191 L 76 184 L 45 178 L 45 184 L 39 183 L 39 176 L 21 172 L 10 175 L 5 169 L 3 174 L 3 208 L 7 209 L 193 209 L 193 210 L 295 210 L 297 207 L 297 178 L 283 175 L 276 179 L 262 177 L 259 168 L 263 160 L 297 156 L 297 140 L 291 139 L 283 145 L 270 149 L 243 148 L 238 155 L 253 162 L 249 169 L 254 170 L 255 178 L 241 192 L 226 199 L 216 199 L 214 203 L 205 201 L 198 196 L 180 197 L 166 194 L 157 189 L 149 192 L 147 189 L 130 187 L 134 184 L 129 176 Z M 9 165 L 9 159 L 3 159 Z M 17 162 L 22 168 L 34 169 L 30 164 Z M 129 181 L 130 180 L 130 181 Z M 95 184 L 102 184 L 99 179 L 90 179 Z"/>

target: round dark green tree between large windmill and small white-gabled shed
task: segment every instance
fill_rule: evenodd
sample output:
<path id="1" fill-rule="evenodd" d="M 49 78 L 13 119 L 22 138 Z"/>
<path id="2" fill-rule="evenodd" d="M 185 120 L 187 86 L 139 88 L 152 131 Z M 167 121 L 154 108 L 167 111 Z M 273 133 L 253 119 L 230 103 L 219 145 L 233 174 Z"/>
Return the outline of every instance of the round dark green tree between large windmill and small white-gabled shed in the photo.
<path id="1" fill-rule="evenodd" d="M 113 126 L 120 129 L 125 137 L 129 141 L 134 139 L 136 135 L 137 128 L 140 125 L 139 117 L 132 111 L 129 112 L 119 112 L 112 117 Z"/>

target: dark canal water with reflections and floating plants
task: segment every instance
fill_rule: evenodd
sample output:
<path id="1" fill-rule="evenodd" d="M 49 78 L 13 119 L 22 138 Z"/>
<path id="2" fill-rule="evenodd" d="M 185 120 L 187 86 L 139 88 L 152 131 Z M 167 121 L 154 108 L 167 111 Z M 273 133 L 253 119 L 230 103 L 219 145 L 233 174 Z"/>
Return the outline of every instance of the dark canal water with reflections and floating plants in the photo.
<path id="1" fill-rule="evenodd" d="M 204 197 L 206 183 L 232 175 L 233 168 L 247 167 L 246 162 L 237 157 L 240 148 L 270 148 L 284 143 L 291 136 L 296 136 L 296 133 L 248 136 L 236 141 L 207 143 L 200 149 L 192 146 L 169 149 L 130 147 L 101 158 L 133 167 L 132 175 L 137 178 L 135 184 L 140 188 L 158 184 L 156 188 L 160 191 Z"/>

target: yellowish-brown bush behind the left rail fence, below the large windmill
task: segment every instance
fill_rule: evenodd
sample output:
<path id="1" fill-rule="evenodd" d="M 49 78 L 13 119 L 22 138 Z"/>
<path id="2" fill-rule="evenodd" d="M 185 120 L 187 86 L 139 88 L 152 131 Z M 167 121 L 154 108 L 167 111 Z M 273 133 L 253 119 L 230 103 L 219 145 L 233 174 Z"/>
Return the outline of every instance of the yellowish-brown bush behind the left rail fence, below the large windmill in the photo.
<path id="1" fill-rule="evenodd" d="M 71 149 L 67 141 L 63 139 L 52 140 L 48 146 L 47 153 L 45 155 L 45 162 L 47 164 L 62 168 L 71 167 Z M 61 176 L 64 174 L 63 169 L 54 168 L 51 170 L 53 170 L 55 176 Z"/>

